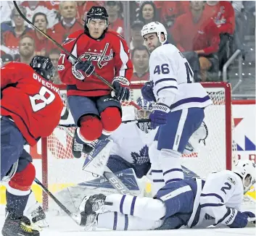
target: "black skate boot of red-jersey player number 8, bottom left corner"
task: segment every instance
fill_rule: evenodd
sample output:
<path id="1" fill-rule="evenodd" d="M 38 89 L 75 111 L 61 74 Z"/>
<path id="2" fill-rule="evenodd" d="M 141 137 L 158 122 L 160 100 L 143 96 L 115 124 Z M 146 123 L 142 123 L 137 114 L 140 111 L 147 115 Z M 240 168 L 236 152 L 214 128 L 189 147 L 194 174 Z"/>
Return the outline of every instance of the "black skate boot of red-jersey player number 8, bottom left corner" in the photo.
<path id="1" fill-rule="evenodd" d="M 5 219 L 4 227 L 1 229 L 3 236 L 39 236 L 37 230 L 31 229 L 22 219 L 12 219 L 8 214 Z"/>

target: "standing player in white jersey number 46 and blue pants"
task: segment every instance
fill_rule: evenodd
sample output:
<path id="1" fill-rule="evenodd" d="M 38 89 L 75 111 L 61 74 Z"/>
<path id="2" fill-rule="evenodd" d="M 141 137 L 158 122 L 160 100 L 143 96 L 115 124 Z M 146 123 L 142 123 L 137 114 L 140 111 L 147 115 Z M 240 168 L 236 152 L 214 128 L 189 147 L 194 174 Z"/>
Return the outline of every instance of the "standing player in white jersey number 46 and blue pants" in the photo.
<path id="1" fill-rule="evenodd" d="M 151 53 L 150 81 L 141 93 L 146 100 L 157 102 L 149 115 L 152 128 L 159 127 L 149 149 L 156 193 L 169 182 L 183 180 L 181 153 L 212 101 L 202 85 L 194 83 L 194 73 L 183 54 L 166 42 L 167 31 L 160 22 L 144 25 L 141 35 Z"/>

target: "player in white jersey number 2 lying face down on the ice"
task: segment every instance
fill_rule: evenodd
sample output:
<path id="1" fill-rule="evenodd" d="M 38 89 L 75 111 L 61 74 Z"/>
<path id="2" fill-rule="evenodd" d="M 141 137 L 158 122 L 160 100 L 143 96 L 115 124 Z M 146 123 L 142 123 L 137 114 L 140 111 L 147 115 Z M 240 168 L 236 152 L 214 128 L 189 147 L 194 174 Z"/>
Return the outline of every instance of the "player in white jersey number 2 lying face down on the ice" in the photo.
<path id="1" fill-rule="evenodd" d="M 241 212 L 243 195 L 253 184 L 255 164 L 240 160 L 233 171 L 212 173 L 206 180 L 170 182 L 154 198 L 93 195 L 80 204 L 81 225 L 114 230 L 202 228 L 212 224 L 243 228 L 255 221 L 254 213 Z"/>

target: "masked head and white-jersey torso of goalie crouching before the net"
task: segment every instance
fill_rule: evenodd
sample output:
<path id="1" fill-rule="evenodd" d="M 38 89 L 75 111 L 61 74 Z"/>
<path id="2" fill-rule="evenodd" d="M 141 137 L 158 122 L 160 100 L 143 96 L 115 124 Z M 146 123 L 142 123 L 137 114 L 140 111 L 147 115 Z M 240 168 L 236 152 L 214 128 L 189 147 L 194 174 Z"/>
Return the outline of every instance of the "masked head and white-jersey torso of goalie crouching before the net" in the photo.
<path id="1" fill-rule="evenodd" d="M 154 102 L 149 102 L 143 97 L 139 97 L 136 100 L 136 104 L 141 109 L 133 109 L 131 107 L 132 109 L 129 110 L 128 114 L 131 116 L 131 119 L 148 119 Z M 113 140 L 113 145 L 110 151 L 110 158 L 107 161 L 107 167 L 112 172 L 115 173 L 133 168 L 138 178 L 143 177 L 149 172 L 151 167 L 149 146 L 153 143 L 154 136 L 157 133 L 157 130 L 150 129 L 149 125 L 149 122 L 129 122 L 120 125 L 112 133 L 110 139 Z"/>

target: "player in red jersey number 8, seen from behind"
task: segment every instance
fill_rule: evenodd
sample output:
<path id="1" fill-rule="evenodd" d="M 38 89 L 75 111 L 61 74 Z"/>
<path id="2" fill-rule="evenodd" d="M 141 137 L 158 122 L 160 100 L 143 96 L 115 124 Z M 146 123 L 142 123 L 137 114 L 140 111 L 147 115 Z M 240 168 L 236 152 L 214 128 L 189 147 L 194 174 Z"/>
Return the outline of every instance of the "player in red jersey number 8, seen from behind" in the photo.
<path id="1" fill-rule="evenodd" d="M 35 56 L 30 65 L 10 62 L 1 67 L 1 179 L 7 184 L 7 218 L 2 235 L 39 235 L 22 222 L 36 177 L 32 157 L 23 146 L 34 146 L 51 135 L 63 109 L 59 89 L 51 83 L 49 58 Z"/>

